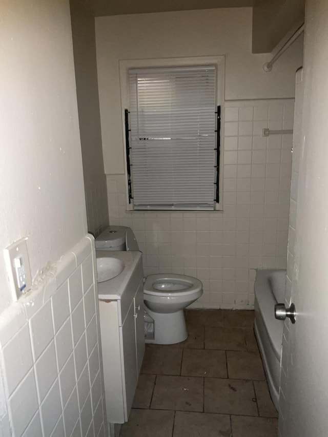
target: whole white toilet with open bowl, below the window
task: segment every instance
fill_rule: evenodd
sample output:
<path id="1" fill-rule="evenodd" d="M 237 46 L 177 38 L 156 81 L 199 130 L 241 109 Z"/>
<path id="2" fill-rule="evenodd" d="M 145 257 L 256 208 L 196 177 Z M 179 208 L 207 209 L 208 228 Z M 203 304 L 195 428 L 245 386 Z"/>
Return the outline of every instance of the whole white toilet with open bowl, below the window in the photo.
<path id="1" fill-rule="evenodd" d="M 139 251 L 130 227 L 109 226 L 95 240 L 96 251 Z M 188 337 L 183 309 L 203 293 L 191 276 L 149 275 L 144 279 L 145 342 L 174 344 Z"/>

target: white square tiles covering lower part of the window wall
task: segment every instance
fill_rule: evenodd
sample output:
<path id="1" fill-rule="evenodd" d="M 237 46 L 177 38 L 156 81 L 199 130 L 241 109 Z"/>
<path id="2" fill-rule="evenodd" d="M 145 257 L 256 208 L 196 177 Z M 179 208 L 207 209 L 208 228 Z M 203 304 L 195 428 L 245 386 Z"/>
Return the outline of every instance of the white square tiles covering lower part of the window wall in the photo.
<path id="1" fill-rule="evenodd" d="M 107 175 L 111 224 L 132 227 L 145 274 L 197 276 L 195 307 L 254 304 L 255 268 L 286 267 L 294 100 L 227 101 L 224 108 L 223 212 L 141 213 L 127 209 L 124 175 Z"/>

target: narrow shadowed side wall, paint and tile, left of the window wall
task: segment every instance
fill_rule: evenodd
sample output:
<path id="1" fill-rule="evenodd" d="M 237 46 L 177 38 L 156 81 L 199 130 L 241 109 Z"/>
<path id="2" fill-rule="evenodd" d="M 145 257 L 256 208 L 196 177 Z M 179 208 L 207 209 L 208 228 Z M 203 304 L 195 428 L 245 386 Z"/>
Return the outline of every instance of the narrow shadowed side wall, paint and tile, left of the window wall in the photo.
<path id="1" fill-rule="evenodd" d="M 108 225 L 107 185 L 101 144 L 94 18 L 71 0 L 78 118 L 88 230 L 95 236 Z"/>

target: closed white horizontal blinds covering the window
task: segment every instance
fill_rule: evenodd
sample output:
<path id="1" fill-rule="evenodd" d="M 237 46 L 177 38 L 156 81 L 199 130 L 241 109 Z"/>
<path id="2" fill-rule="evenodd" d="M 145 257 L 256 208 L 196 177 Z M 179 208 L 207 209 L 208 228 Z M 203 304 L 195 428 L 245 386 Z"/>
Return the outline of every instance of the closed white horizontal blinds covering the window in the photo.
<path id="1" fill-rule="evenodd" d="M 134 209 L 213 210 L 212 66 L 129 70 Z"/>

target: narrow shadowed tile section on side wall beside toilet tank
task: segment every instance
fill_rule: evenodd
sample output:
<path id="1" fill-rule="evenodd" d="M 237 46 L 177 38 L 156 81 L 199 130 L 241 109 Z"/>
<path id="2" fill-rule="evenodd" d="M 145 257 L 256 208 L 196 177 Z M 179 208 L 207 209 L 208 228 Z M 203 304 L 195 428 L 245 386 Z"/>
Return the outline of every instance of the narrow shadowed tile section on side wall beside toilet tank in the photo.
<path id="1" fill-rule="evenodd" d="M 106 175 L 85 182 L 88 231 L 97 237 L 108 226 Z"/>

